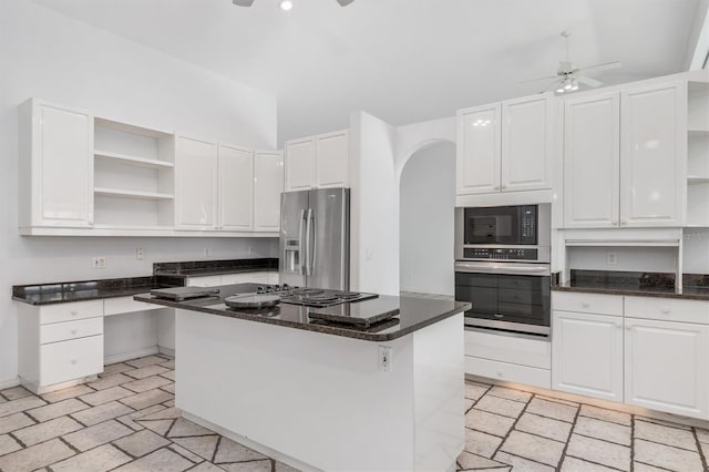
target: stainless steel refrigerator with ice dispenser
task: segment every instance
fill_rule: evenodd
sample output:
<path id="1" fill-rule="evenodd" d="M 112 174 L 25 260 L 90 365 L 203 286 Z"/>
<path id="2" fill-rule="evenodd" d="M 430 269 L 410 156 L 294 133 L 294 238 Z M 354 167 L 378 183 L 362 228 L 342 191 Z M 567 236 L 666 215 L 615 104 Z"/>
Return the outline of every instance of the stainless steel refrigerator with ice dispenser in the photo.
<path id="1" fill-rule="evenodd" d="M 349 188 L 280 195 L 279 283 L 349 290 Z"/>

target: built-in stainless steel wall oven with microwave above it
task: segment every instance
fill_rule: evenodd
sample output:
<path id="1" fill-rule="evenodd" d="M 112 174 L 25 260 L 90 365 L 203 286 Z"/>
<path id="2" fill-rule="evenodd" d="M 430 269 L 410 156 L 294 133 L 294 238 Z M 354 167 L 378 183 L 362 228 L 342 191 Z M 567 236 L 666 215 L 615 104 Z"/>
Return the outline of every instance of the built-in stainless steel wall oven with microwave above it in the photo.
<path id="1" fill-rule="evenodd" d="M 455 208 L 455 299 L 465 326 L 551 332 L 551 205 Z"/>

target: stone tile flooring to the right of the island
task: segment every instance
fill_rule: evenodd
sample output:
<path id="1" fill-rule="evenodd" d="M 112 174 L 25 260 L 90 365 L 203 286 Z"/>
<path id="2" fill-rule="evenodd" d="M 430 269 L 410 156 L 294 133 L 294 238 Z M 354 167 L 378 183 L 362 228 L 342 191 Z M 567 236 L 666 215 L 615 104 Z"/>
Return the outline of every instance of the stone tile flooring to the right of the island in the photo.
<path id="1" fill-rule="evenodd" d="M 499 386 L 465 384 L 459 470 L 709 471 L 709 430 Z"/>

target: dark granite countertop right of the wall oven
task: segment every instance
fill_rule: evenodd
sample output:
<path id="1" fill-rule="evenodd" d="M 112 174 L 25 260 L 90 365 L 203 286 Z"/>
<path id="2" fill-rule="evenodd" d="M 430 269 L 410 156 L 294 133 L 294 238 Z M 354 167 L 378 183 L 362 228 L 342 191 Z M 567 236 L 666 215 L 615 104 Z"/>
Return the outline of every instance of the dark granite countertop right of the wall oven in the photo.
<path id="1" fill-rule="evenodd" d="M 709 300 L 709 277 L 685 274 L 682 293 L 675 288 L 674 274 L 606 270 L 572 270 L 571 284 L 552 285 L 553 290 L 638 297 Z"/>

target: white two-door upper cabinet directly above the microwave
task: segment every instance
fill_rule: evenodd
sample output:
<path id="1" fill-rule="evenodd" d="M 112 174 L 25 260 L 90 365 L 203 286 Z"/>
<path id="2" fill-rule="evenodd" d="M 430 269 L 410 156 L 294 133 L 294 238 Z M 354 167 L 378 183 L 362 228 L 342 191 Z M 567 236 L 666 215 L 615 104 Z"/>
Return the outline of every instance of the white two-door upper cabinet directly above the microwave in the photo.
<path id="1" fill-rule="evenodd" d="M 458 195 L 552 187 L 553 96 L 458 111 Z"/>

